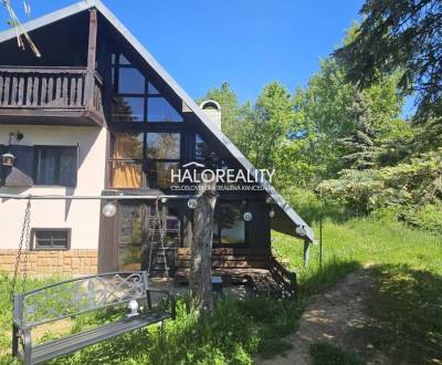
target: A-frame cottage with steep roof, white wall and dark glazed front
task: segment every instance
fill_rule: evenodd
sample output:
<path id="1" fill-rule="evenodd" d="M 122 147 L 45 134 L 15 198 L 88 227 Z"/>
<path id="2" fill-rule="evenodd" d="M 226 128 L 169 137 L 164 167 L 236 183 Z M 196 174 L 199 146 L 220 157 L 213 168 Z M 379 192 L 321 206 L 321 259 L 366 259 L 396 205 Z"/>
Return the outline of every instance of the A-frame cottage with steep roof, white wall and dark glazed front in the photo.
<path id="1" fill-rule="evenodd" d="M 24 28 L 41 58 L 17 46 L 14 30 L 0 33 L 1 271 L 13 270 L 24 213 L 23 200 L 7 195 L 168 196 L 33 200 L 29 271 L 151 265 L 155 275 L 186 280 L 192 239 L 186 197 L 197 181 L 177 176 L 213 161 L 225 173 L 214 268 L 224 274 L 269 268 L 272 229 L 314 240 L 271 186 L 274 173 L 255 170 L 223 135 L 220 105 L 196 105 L 102 2 L 80 1 Z"/>

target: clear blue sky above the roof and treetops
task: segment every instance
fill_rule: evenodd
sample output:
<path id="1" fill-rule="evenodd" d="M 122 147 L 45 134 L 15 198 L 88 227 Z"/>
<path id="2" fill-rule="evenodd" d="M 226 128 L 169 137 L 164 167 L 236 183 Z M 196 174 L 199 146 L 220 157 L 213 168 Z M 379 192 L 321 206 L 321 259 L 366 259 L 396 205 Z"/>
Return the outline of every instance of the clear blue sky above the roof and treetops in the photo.
<path id="1" fill-rule="evenodd" d="M 74 1 L 28 0 L 32 18 Z M 21 19 L 22 1 L 12 0 Z M 228 81 L 254 100 L 272 81 L 305 85 L 359 19 L 362 0 L 104 0 L 192 96 Z M 0 9 L 1 10 L 1 9 Z M 0 27 L 6 29 L 2 11 Z"/>

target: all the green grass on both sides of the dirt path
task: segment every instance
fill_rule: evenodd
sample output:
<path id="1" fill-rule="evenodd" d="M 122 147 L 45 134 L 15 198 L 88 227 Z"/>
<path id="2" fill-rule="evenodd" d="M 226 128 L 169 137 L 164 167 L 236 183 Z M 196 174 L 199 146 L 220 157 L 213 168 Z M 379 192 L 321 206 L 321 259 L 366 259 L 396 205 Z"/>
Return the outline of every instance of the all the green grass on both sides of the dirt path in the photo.
<path id="1" fill-rule="evenodd" d="M 296 269 L 299 300 L 224 299 L 217 302 L 213 316 L 199 321 L 179 301 L 178 319 L 166 326 L 161 347 L 158 327 L 151 326 L 91 346 L 54 364 L 252 364 L 257 354 L 270 357 L 290 348 L 283 337 L 296 328 L 313 293 L 322 292 L 339 278 L 371 262 L 377 285 L 367 295 L 367 311 L 376 319 L 369 331 L 355 333 L 398 363 L 430 362 L 442 353 L 442 247 L 441 238 L 413 231 L 396 222 L 351 220 L 324 226 L 324 265 L 318 270 L 318 248 L 311 265 L 302 265 L 302 244 L 275 233 L 274 248 Z M 29 288 L 43 284 L 32 281 Z M 14 364 L 10 351 L 10 281 L 0 277 L 0 364 Z M 393 313 L 394 315 L 390 315 Z M 97 316 L 77 320 L 75 332 L 103 321 Z M 48 338 L 53 334 L 43 334 Z M 410 345 L 410 342 L 413 346 Z M 313 347 L 315 358 L 346 354 L 327 344 Z M 352 361 L 351 355 L 350 363 Z M 329 358 L 329 356 L 328 356 Z M 318 361 L 318 364 L 320 362 Z M 320 363 L 323 364 L 323 363 Z"/>

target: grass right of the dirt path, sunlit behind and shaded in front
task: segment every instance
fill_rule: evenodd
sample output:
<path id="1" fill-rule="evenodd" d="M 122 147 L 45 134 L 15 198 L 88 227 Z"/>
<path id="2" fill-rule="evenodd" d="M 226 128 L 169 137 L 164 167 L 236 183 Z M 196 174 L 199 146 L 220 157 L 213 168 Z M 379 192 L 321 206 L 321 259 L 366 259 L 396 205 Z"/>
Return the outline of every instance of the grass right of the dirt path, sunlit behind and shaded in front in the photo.
<path id="1" fill-rule="evenodd" d="M 304 269 L 302 247 L 283 234 L 274 238 L 278 254 L 288 259 L 303 278 L 303 290 L 312 291 L 314 281 L 322 278 L 317 274 L 318 247 L 312 249 L 311 265 Z M 442 364 L 441 237 L 375 219 L 326 222 L 323 258 L 326 275 L 336 267 L 329 264 L 333 262 L 372 265 L 375 285 L 365 298 L 365 307 L 373 321 L 351 334 L 355 345 L 371 344 L 392 364 Z M 320 356 L 322 351 L 325 355 L 330 351 L 325 347 L 314 348 L 317 358 L 327 357 Z M 368 357 L 370 352 L 361 353 Z"/>

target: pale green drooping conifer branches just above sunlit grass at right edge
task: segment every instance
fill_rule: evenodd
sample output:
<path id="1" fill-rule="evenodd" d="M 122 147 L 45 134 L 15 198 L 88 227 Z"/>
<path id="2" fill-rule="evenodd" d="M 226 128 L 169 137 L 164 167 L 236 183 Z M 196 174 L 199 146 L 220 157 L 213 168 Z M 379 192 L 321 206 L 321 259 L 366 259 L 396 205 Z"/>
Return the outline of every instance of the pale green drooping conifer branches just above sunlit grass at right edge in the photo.
<path id="1" fill-rule="evenodd" d="M 442 148 L 391 167 L 343 170 L 337 179 L 322 181 L 317 190 L 358 213 L 389 208 L 398 218 L 407 218 L 411 211 L 425 211 L 425 206 L 440 207 Z"/>

